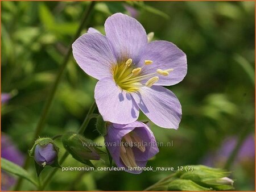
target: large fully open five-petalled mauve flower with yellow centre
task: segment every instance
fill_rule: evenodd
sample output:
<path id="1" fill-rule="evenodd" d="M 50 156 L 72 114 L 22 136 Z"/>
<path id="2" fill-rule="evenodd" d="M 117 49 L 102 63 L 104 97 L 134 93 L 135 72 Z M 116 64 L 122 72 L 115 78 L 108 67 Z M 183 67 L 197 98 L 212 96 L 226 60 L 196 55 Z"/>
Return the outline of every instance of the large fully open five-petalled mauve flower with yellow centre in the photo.
<path id="1" fill-rule="evenodd" d="M 148 43 L 141 23 L 121 13 L 105 22 L 106 36 L 89 29 L 73 43 L 79 66 L 97 82 L 94 98 L 105 121 L 128 124 L 139 110 L 156 125 L 179 127 L 181 105 L 172 91 L 187 73 L 187 59 L 168 41 Z"/>

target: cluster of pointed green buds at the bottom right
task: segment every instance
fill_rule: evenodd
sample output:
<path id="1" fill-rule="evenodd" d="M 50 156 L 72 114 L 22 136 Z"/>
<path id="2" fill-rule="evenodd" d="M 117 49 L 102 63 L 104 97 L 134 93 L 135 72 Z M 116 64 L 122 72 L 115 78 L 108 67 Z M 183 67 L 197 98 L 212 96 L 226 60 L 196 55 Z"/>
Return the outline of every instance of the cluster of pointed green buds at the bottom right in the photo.
<path id="1" fill-rule="evenodd" d="M 187 169 L 189 167 L 189 170 Z M 188 165 L 148 187 L 156 191 L 227 191 L 234 189 L 234 181 L 228 178 L 230 172 L 204 165 Z"/>

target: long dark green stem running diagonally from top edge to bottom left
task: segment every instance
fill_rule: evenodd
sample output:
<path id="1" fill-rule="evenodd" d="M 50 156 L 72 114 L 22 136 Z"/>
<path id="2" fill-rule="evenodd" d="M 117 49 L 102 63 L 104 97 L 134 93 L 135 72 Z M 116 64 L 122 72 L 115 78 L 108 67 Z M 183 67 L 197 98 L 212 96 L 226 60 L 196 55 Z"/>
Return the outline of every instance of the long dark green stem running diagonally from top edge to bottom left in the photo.
<path id="1" fill-rule="evenodd" d="M 81 31 L 82 31 L 85 23 L 87 22 L 87 20 L 89 18 L 89 15 L 90 15 L 90 12 L 92 12 L 95 3 L 96 2 L 94 2 L 94 1 L 90 2 L 87 9 L 85 10 L 84 17 L 82 18 L 80 26 L 79 26 L 75 36 L 73 37 L 72 43 L 80 36 Z M 53 85 L 51 87 L 51 90 L 49 91 L 46 103 L 44 104 L 44 107 L 43 107 L 43 110 L 42 110 L 42 114 L 41 114 L 40 119 L 38 121 L 38 124 L 36 126 L 36 130 L 35 130 L 34 137 L 33 137 L 32 141 L 36 140 L 36 138 L 40 135 L 40 133 L 43 130 L 44 124 L 46 123 L 46 119 L 47 119 L 47 116 L 49 114 L 49 109 L 50 109 L 52 101 L 53 101 L 53 97 L 56 93 L 57 87 L 59 86 L 61 77 L 63 76 L 64 70 L 65 70 L 65 68 L 68 64 L 68 60 L 69 60 L 69 57 L 70 57 L 71 53 L 72 53 L 72 44 L 69 46 L 68 53 L 67 53 L 67 55 L 65 55 L 64 60 L 63 60 L 63 64 L 61 65 L 61 67 L 59 69 L 59 72 L 57 73 L 56 79 L 53 82 Z M 32 143 L 31 146 L 33 144 L 34 143 Z M 28 168 L 29 162 L 30 162 L 30 157 L 27 156 L 27 158 L 24 162 L 24 165 L 23 165 L 24 169 Z M 18 180 L 18 182 L 16 183 L 16 185 L 14 187 L 14 191 L 18 191 L 21 184 L 22 184 L 22 178 L 19 177 L 19 180 Z"/>

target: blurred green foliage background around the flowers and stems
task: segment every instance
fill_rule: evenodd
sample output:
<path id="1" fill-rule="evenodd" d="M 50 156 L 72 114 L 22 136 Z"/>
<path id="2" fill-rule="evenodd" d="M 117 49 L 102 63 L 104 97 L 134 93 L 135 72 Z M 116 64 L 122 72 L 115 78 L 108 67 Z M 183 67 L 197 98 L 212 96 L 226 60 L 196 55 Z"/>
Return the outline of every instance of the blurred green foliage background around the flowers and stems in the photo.
<path id="1" fill-rule="evenodd" d="M 12 95 L 2 105 L 1 129 L 24 155 L 49 87 L 88 5 L 1 2 L 1 91 Z M 244 133 L 246 138 L 253 137 L 253 145 L 245 145 L 241 149 L 244 153 L 237 155 L 229 169 L 236 190 L 254 190 L 254 2 L 97 2 L 82 33 L 88 27 L 104 33 L 106 18 L 115 12 L 132 13 L 147 33 L 155 33 L 154 40 L 171 41 L 187 54 L 187 76 L 170 87 L 183 107 L 179 130 L 152 126 L 156 140 L 174 141 L 174 146 L 160 147 L 147 165 L 210 164 L 223 168 L 226 151 L 233 149 L 223 149 L 229 146 L 226 139 L 237 140 Z M 77 130 L 93 102 L 96 82 L 71 56 L 41 136 Z M 102 140 L 94 123 L 90 122 L 85 136 Z M 63 155 L 59 140 L 57 144 Z M 69 157 L 64 166 L 82 165 Z M 42 178 L 50 169 L 44 170 Z M 28 171 L 36 176 L 32 159 Z M 60 170 L 46 190 L 143 190 L 168 174 Z M 22 190 L 35 188 L 23 182 Z"/>

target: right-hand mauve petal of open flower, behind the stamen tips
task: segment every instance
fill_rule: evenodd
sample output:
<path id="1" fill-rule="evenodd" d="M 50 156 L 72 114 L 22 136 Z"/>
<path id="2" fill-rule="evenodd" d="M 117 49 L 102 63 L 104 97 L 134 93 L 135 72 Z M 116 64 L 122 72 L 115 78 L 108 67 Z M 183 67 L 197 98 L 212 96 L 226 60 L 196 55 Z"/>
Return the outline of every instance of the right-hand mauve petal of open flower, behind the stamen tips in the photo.
<path id="1" fill-rule="evenodd" d="M 153 63 L 142 71 L 142 74 L 156 72 L 157 69 L 173 69 L 168 76 L 159 76 L 154 85 L 175 85 L 187 74 L 187 57 L 183 51 L 168 41 L 152 41 L 147 44 L 138 66 L 143 66 L 145 60 Z M 145 81 L 146 82 L 146 81 Z M 145 83 L 144 82 L 144 83 Z"/>

